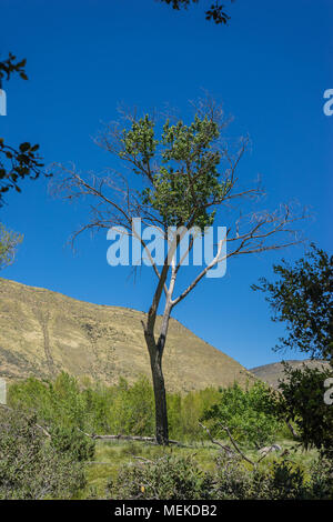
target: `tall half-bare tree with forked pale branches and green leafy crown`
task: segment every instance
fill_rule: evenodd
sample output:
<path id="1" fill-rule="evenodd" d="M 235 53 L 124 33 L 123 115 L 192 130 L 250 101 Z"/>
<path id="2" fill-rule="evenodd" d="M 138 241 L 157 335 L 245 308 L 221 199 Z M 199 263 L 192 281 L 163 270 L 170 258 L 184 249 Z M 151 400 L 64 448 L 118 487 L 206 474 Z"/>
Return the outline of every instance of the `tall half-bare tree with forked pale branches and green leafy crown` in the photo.
<path id="1" fill-rule="evenodd" d="M 295 242 L 294 237 L 284 239 L 284 234 L 290 234 L 291 221 L 297 219 L 291 214 L 289 205 L 282 205 L 274 212 L 253 211 L 233 221 L 230 218 L 226 238 L 219 241 L 213 259 L 174 297 L 184 260 L 183 255 L 176 255 L 184 230 L 195 228 L 196 233 L 202 235 L 205 227 L 218 224 L 221 210 L 225 212 L 226 219 L 231 203 L 239 203 L 244 210 L 246 199 L 258 204 L 262 195 L 259 185 L 245 188 L 240 183 L 236 170 L 249 140 L 241 139 L 238 148 L 230 150 L 229 141 L 222 135 L 225 124 L 221 108 L 212 100 L 198 104 L 190 124 L 181 120 L 172 124 L 167 120 L 159 129 L 154 118 L 149 114 L 137 118 L 127 113 L 124 122 L 108 126 L 97 142 L 113 154 L 120 164 L 130 167 L 130 175 L 112 170 L 110 174 L 93 174 L 89 178 L 74 168 L 63 165 L 60 165 L 58 172 L 60 193 L 69 200 L 82 199 L 82 203 L 89 202 L 90 207 L 90 219 L 73 234 L 73 240 L 83 231 L 114 225 L 122 227 L 129 235 L 135 235 L 133 218 L 141 218 L 143 224 L 153 225 L 164 241 L 168 241 L 170 227 L 181 231 L 169 242 L 161 269 L 152 259 L 148 241 L 140 237 L 157 277 L 143 333 L 152 371 L 155 435 L 160 444 L 167 444 L 169 440 L 162 358 L 174 307 L 226 258 Z M 276 235 L 281 235 L 281 240 Z M 223 250 L 225 242 L 230 248 L 226 254 Z M 190 253 L 193 244 L 191 237 L 185 254 Z M 162 304 L 162 320 L 158 327 L 157 317 Z"/>

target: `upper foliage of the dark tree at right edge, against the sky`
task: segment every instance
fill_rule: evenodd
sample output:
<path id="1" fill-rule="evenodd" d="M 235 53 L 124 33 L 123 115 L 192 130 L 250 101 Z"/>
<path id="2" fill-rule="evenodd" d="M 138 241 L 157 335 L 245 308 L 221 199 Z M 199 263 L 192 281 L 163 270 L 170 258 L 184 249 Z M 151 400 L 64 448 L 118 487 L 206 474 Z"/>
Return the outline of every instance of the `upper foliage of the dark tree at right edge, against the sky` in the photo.
<path id="1" fill-rule="evenodd" d="M 294 267 L 284 260 L 273 267 L 280 278 L 265 278 L 253 290 L 268 293 L 273 321 L 285 322 L 289 337 L 279 349 L 294 349 L 333 364 L 333 255 L 311 245 Z"/>

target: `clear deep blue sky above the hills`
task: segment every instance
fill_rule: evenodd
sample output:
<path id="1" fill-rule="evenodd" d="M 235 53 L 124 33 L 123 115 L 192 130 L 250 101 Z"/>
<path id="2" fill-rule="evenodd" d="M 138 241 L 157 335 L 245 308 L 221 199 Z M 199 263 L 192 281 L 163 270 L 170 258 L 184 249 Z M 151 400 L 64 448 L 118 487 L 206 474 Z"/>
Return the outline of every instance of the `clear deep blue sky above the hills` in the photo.
<path id="1" fill-rule="evenodd" d="M 262 175 L 264 207 L 294 199 L 311 205 L 304 233 L 332 252 L 333 117 L 323 113 L 323 92 L 333 88 L 332 0 L 236 0 L 228 4 L 228 27 L 204 20 L 208 4 L 176 12 L 154 0 L 0 0 L 1 57 L 26 57 L 29 76 L 4 86 L 1 135 L 40 143 L 46 163 L 73 161 L 98 172 L 112 159 L 92 137 L 117 117 L 119 102 L 143 111 L 169 103 L 186 116 L 189 100 L 206 89 L 234 117 L 230 135 L 251 137 L 242 179 Z M 24 242 L 1 277 L 148 310 L 150 270 L 133 281 L 129 269 L 109 267 L 105 234 L 81 238 L 75 255 L 64 247 L 84 212 L 54 200 L 47 180 L 22 183 L 7 201 L 1 221 Z M 281 257 L 303 252 L 230 261 L 224 278 L 203 281 L 173 315 L 248 368 L 276 361 L 271 349 L 283 327 L 271 322 L 263 294 L 250 285 L 271 277 Z"/>

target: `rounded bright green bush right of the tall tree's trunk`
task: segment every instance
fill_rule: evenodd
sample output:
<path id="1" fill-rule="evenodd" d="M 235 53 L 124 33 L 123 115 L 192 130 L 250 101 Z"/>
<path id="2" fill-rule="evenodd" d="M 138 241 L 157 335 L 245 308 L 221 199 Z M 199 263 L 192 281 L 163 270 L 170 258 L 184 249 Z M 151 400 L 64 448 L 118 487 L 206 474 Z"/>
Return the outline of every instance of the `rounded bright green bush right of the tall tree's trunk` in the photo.
<path id="1" fill-rule="evenodd" d="M 204 412 L 202 421 L 210 421 L 213 435 L 225 436 L 228 428 L 238 442 L 255 448 L 273 442 L 282 428 L 274 395 L 262 382 L 248 390 L 236 383 L 221 389 L 219 401 Z"/>

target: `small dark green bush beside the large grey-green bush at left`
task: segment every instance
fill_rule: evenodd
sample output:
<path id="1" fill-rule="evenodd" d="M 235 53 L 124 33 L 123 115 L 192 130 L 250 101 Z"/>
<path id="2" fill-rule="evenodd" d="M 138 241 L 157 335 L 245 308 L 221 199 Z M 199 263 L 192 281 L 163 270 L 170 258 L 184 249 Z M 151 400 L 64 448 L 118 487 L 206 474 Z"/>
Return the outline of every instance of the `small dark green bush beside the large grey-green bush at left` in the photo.
<path id="1" fill-rule="evenodd" d="M 95 441 L 77 428 L 54 426 L 50 432 L 51 446 L 59 453 L 68 453 L 78 462 L 93 459 Z"/>

